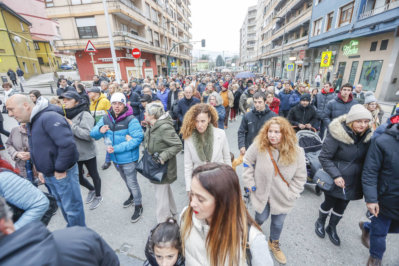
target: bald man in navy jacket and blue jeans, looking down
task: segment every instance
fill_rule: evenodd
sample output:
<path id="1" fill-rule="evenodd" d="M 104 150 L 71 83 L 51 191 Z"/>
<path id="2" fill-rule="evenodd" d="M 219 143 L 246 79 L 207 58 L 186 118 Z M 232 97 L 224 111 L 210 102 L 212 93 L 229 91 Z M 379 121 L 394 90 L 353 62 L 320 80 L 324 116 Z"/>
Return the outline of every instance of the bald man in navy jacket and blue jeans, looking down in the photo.
<path id="1" fill-rule="evenodd" d="M 27 123 L 30 158 L 57 199 L 67 227 L 86 226 L 76 164 L 79 152 L 62 109 L 43 96 L 35 105 L 22 94 L 8 98 L 6 109 L 8 116 Z"/>

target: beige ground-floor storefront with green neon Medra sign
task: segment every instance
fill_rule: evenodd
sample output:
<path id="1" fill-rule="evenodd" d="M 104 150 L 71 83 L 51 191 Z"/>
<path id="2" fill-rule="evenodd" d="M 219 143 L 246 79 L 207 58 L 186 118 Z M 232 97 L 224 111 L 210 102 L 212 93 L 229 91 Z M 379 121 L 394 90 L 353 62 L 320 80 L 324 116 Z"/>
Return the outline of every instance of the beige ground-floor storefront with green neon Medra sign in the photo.
<path id="1" fill-rule="evenodd" d="M 385 95 L 387 87 L 396 82 L 391 80 L 391 75 L 386 75 L 396 65 L 398 55 L 394 42 L 393 32 L 342 41 L 335 69 L 337 76 L 342 75 L 342 84 L 361 84 L 364 91 L 375 92 L 377 99 L 381 91 Z"/>

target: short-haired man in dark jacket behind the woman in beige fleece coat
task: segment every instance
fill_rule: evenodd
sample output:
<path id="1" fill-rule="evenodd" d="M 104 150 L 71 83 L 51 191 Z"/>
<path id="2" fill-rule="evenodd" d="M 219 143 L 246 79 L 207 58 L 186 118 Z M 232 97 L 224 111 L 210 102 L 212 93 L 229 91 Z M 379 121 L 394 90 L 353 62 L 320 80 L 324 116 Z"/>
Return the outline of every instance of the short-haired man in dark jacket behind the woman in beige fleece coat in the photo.
<path id="1" fill-rule="evenodd" d="M 245 113 L 237 133 L 238 148 L 240 149 L 241 155 L 245 154 L 263 124 L 269 120 L 269 118 L 277 116 L 277 114 L 272 112 L 269 106 L 267 106 L 265 93 L 257 92 L 252 98 L 254 107 L 250 108 L 249 111 Z"/>

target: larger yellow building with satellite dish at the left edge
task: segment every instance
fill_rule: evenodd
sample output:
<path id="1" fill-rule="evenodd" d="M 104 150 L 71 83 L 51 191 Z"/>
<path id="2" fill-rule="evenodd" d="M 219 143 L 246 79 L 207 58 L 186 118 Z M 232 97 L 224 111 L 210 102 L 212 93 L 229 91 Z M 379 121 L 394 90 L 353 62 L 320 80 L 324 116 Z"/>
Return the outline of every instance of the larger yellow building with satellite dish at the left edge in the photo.
<path id="1" fill-rule="evenodd" d="M 19 66 L 25 72 L 24 78 L 41 74 L 28 20 L 6 4 L 0 2 L 0 76 L 2 82 L 9 81 L 9 68 L 16 72 Z"/>

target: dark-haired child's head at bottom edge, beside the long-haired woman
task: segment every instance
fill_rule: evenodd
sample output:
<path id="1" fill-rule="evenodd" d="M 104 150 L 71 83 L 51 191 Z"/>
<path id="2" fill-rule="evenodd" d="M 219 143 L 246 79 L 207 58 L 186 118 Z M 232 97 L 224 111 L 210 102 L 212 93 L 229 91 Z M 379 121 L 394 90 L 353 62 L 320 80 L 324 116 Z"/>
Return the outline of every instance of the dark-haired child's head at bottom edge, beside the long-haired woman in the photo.
<path id="1" fill-rule="evenodd" d="M 159 223 L 148 236 L 144 266 L 184 266 L 179 225 L 172 217 Z"/>

